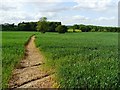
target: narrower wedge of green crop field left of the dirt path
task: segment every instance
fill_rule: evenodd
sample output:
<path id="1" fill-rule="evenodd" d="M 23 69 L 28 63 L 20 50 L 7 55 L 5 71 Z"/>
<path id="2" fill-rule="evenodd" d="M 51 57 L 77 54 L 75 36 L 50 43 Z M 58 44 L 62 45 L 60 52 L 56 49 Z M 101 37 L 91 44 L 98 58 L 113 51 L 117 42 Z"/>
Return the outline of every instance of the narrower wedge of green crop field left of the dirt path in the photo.
<path id="1" fill-rule="evenodd" d="M 24 56 L 24 45 L 32 32 L 2 32 L 2 87 L 6 88 L 11 72 Z"/>

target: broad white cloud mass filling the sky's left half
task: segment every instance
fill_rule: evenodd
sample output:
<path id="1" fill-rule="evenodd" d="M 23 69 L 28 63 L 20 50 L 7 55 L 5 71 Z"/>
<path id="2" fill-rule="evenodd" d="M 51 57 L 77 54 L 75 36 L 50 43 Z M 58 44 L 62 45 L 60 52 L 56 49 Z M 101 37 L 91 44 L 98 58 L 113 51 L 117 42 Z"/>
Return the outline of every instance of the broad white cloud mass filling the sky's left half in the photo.
<path id="1" fill-rule="evenodd" d="M 54 12 L 40 11 L 41 8 L 49 8 L 55 5 L 55 0 L 4 0 L 0 8 L 0 23 L 19 23 L 20 21 L 39 20 L 40 17 L 53 17 Z M 51 3 L 50 3 L 51 2 Z M 50 3 L 50 4 L 49 4 Z M 34 8 L 31 8 L 31 7 Z M 31 10 L 30 10 L 31 8 Z"/>

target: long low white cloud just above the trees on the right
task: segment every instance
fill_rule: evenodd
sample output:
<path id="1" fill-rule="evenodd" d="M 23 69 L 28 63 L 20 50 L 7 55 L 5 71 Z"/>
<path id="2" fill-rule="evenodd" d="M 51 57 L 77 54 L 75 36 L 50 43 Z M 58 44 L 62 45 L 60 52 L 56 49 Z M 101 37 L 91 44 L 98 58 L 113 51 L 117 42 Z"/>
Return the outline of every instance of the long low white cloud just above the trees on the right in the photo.
<path id="1" fill-rule="evenodd" d="M 72 17 L 61 18 L 63 24 L 86 24 L 86 25 L 102 25 L 102 26 L 117 26 L 117 18 L 115 17 L 98 17 L 90 18 L 86 16 L 75 15 Z"/>

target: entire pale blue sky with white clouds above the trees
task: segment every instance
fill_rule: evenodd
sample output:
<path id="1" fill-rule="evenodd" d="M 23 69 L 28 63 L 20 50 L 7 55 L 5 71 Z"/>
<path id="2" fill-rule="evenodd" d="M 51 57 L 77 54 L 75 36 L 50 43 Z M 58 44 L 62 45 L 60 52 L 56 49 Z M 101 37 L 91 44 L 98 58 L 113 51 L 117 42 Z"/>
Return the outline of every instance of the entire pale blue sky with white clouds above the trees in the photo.
<path id="1" fill-rule="evenodd" d="M 118 25 L 119 0 L 4 0 L 1 2 L 0 23 L 38 21 L 46 16 L 49 21 L 65 25 Z"/>

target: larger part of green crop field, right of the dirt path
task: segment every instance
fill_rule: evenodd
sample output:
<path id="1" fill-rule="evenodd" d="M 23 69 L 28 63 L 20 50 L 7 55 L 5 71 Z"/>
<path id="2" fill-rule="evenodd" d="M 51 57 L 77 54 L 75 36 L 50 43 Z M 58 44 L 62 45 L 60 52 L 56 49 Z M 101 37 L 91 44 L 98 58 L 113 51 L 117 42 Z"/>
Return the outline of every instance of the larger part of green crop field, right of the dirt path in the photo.
<path id="1" fill-rule="evenodd" d="M 118 87 L 118 33 L 46 33 L 36 40 L 60 87 Z"/>

